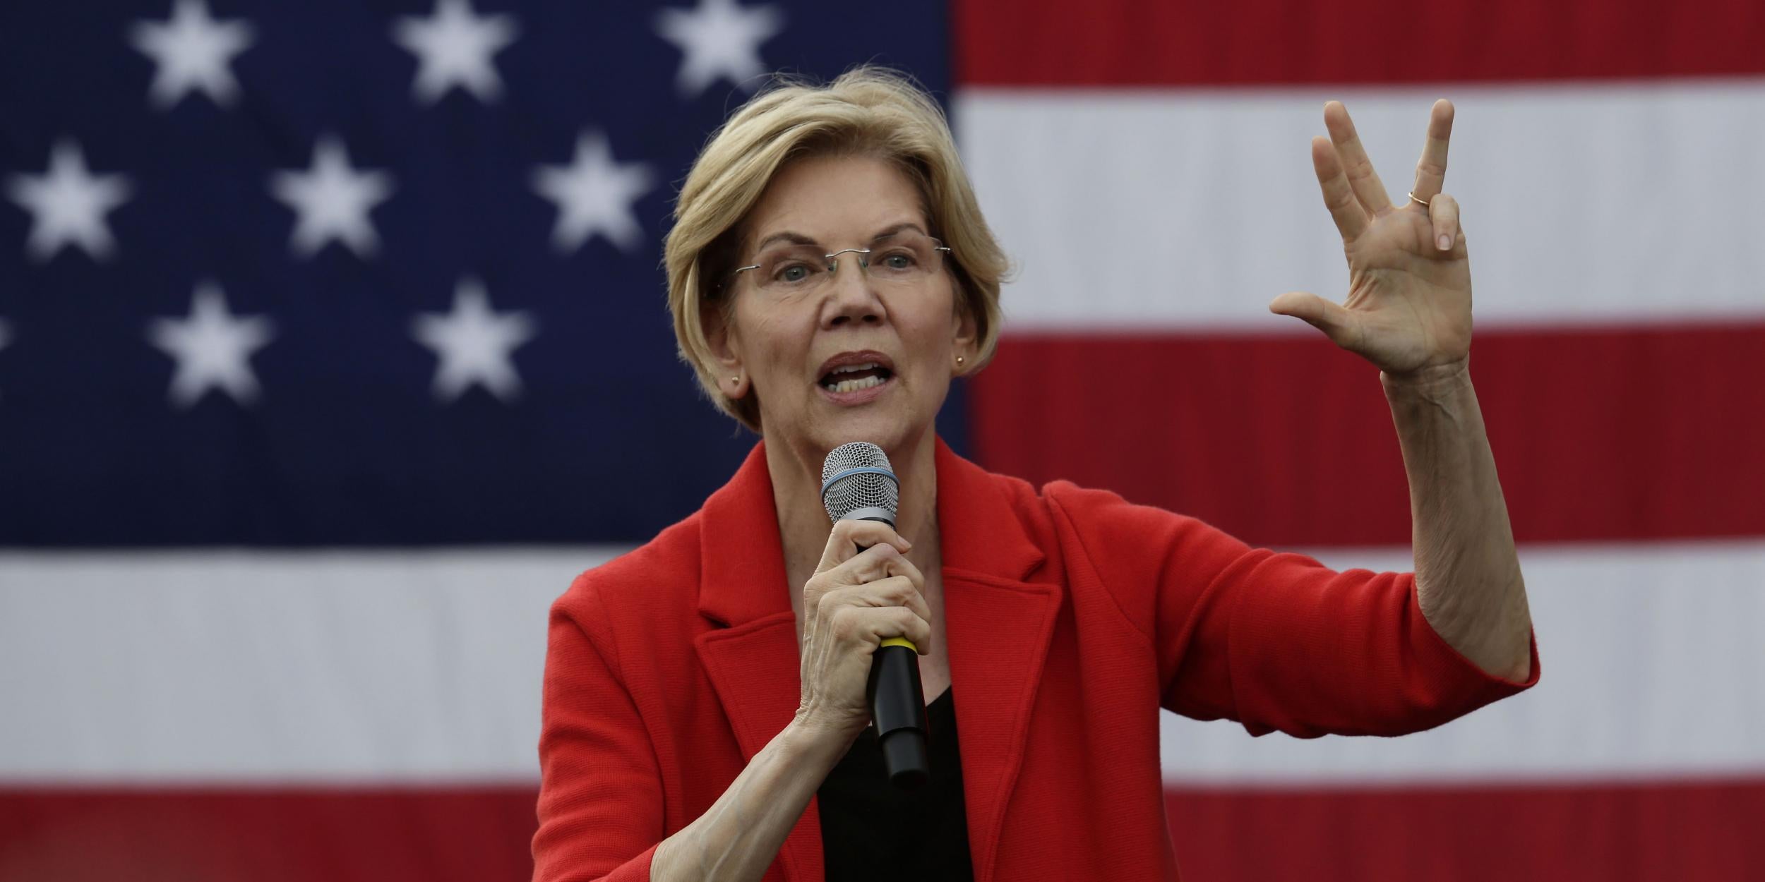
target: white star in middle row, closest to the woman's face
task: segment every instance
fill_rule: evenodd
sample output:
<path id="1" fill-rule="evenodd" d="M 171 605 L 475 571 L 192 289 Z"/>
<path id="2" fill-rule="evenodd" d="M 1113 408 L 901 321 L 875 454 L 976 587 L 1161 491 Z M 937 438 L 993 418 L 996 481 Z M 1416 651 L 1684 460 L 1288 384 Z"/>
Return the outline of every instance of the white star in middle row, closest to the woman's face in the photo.
<path id="1" fill-rule="evenodd" d="M 650 168 L 614 162 L 607 136 L 600 132 L 577 136 L 575 159 L 568 166 L 540 166 L 533 173 L 533 189 L 558 203 L 552 245 L 561 252 L 582 247 L 595 233 L 621 250 L 635 249 L 644 240 L 644 228 L 632 203 L 651 185 Z"/>

